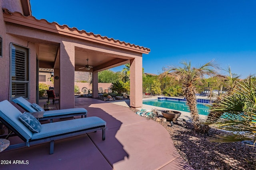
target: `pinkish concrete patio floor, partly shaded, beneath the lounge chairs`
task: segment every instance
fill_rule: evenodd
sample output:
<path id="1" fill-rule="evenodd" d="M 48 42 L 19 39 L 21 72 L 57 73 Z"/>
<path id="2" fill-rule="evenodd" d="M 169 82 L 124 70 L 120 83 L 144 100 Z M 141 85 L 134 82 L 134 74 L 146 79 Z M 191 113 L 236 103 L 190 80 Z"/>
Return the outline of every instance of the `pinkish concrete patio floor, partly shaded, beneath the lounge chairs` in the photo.
<path id="1" fill-rule="evenodd" d="M 44 103 L 45 100 L 40 100 L 40 106 Z M 54 105 L 51 103 L 50 106 Z M 0 169 L 193 169 L 182 160 L 168 131 L 159 123 L 134 114 L 128 107 L 92 98 L 75 98 L 75 107 L 87 109 L 87 117 L 98 116 L 107 122 L 105 141 L 102 141 L 102 132 L 97 131 L 55 141 L 54 154 L 51 155 L 49 143 L 6 150 L 0 153 L 0 161 L 10 160 L 11 164 L 0 164 Z M 54 121 L 64 120 L 66 119 Z M 9 140 L 11 145 L 21 141 L 18 137 L 11 137 Z M 25 164 L 14 164 L 13 161 L 16 160 L 24 160 Z"/>

